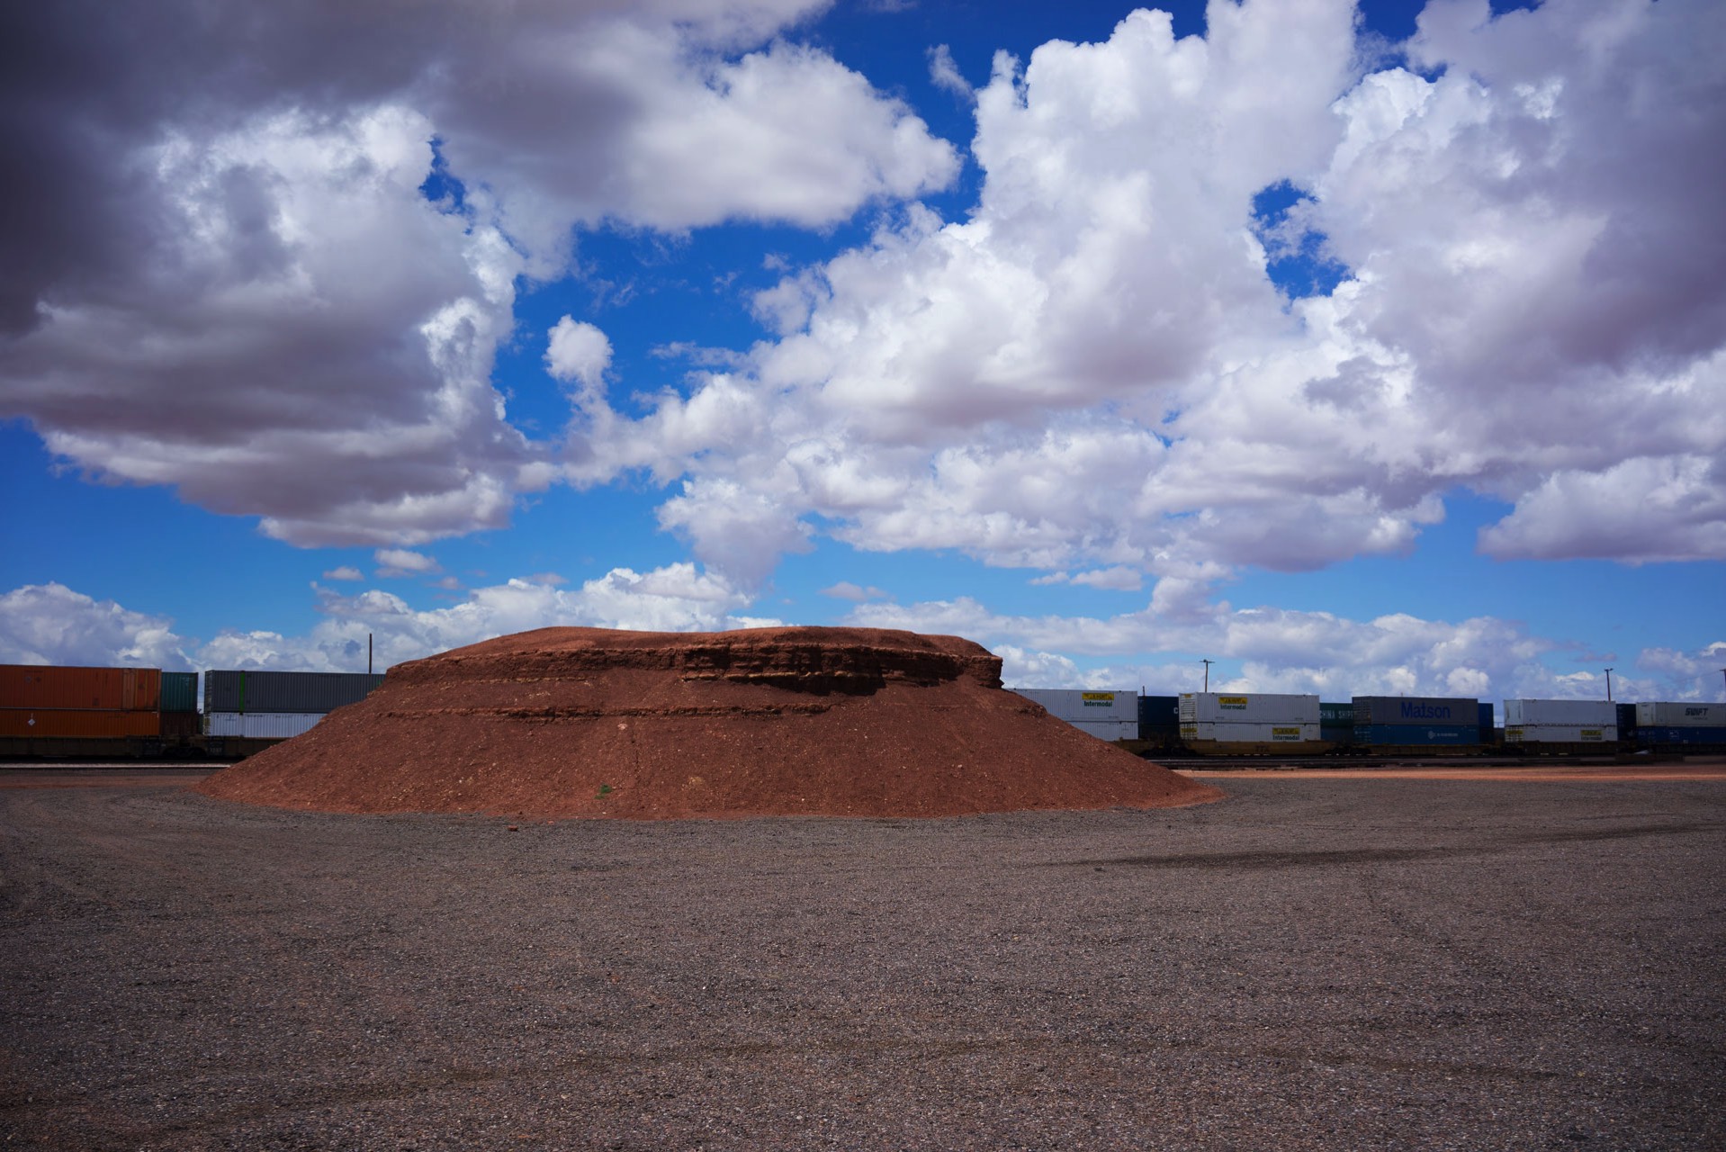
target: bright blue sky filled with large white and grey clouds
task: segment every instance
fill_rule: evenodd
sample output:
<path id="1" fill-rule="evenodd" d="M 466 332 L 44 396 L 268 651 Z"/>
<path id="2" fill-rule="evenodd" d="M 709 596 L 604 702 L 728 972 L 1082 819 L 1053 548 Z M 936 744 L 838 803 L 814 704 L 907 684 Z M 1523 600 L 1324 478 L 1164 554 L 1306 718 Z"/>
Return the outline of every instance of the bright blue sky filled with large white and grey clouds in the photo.
<path id="1" fill-rule="evenodd" d="M 1726 698 L 1719 5 L 1165 9 L 7 16 L 0 660 Z"/>

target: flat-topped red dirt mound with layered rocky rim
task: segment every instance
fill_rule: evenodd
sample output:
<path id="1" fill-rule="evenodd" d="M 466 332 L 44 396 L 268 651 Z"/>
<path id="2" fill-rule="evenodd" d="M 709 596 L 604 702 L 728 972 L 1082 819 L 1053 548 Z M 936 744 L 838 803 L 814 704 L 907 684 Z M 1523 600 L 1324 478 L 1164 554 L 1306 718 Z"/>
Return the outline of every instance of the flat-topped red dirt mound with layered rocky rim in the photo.
<path id="1" fill-rule="evenodd" d="M 1156 808 L 1217 789 L 1001 689 L 954 636 L 540 629 L 390 668 L 198 786 L 324 812 L 963 815 Z"/>

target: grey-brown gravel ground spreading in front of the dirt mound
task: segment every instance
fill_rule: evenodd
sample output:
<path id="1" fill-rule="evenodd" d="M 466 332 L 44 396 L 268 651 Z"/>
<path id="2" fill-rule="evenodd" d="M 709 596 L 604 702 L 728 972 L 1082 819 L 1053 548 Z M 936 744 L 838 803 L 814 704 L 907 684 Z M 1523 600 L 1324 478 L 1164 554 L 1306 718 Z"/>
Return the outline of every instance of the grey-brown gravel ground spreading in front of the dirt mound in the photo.
<path id="1" fill-rule="evenodd" d="M 1719 1149 L 1726 784 L 520 824 L 0 789 L 0 1143 Z"/>

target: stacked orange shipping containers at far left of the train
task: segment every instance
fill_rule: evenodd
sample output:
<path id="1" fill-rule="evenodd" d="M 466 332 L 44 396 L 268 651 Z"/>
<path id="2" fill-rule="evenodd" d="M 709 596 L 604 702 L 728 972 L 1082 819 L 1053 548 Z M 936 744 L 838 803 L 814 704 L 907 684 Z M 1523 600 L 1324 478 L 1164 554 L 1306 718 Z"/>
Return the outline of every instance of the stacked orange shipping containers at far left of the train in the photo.
<path id="1" fill-rule="evenodd" d="M 0 665 L 0 736 L 29 741 L 161 736 L 157 668 Z"/>

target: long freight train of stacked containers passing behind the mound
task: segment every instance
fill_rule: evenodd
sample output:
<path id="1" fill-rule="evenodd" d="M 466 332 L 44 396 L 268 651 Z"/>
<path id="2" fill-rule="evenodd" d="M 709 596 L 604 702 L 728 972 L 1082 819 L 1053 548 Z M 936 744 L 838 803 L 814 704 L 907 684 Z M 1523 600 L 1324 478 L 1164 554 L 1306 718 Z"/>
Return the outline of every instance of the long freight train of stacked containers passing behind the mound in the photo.
<path id="1" fill-rule="evenodd" d="M 381 674 L 0 665 L 0 758 L 236 760 L 364 699 Z M 1143 756 L 1726 753 L 1726 705 L 1020 689 Z"/>

